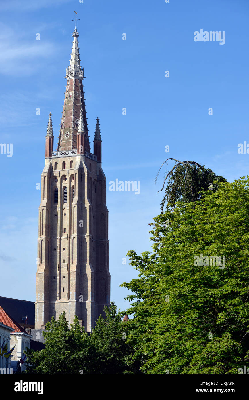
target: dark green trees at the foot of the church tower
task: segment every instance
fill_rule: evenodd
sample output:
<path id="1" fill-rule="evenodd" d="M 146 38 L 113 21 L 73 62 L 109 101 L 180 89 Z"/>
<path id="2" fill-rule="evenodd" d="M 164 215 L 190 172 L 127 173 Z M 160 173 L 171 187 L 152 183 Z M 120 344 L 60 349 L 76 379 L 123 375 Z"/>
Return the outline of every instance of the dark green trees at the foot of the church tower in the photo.
<path id="1" fill-rule="evenodd" d="M 43 332 L 45 349 L 28 349 L 28 374 L 134 374 L 140 364 L 127 344 L 128 328 L 123 314 L 111 302 L 105 307 L 106 319 L 101 315 L 90 336 L 82 330 L 75 316 L 71 329 L 63 312 L 59 320 L 52 317 Z"/>

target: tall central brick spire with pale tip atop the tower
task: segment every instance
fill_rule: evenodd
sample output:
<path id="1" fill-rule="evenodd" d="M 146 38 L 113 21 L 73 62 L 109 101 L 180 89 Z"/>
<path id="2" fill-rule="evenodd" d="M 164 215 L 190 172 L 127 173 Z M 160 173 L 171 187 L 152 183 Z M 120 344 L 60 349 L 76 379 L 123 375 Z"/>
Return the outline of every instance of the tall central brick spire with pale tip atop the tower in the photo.
<path id="1" fill-rule="evenodd" d="M 72 34 L 73 47 L 71 48 L 70 64 L 66 70 L 67 86 L 61 118 L 61 127 L 57 150 L 71 150 L 77 148 L 77 130 L 82 110 L 82 121 L 85 132 L 85 150 L 90 152 L 89 136 L 87 128 L 87 116 L 85 110 L 85 98 L 82 81 L 84 68 L 80 65 L 77 28 Z"/>

